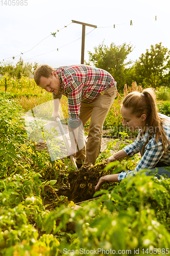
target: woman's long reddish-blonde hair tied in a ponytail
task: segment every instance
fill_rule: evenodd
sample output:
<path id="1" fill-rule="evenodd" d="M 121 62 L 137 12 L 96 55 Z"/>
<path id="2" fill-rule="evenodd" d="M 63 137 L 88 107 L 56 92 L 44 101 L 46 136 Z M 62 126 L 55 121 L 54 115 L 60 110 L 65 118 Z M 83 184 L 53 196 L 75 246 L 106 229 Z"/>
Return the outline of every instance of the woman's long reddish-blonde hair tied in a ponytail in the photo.
<path id="1" fill-rule="evenodd" d="M 127 109 L 131 110 L 131 114 L 136 117 L 140 117 L 142 114 L 145 114 L 147 118 L 145 119 L 147 127 L 152 129 L 149 134 L 148 140 L 144 143 L 141 151 L 141 155 L 143 155 L 144 147 L 148 144 L 149 139 L 155 133 L 155 140 L 158 144 L 158 139 L 161 137 L 163 150 L 166 155 L 165 145 L 169 143 L 166 138 L 166 134 L 162 123 L 164 118 L 158 116 L 157 104 L 156 104 L 156 95 L 152 88 L 147 88 L 139 92 L 129 93 L 122 102 L 123 106 Z M 142 134 L 142 131 L 141 131 Z"/>

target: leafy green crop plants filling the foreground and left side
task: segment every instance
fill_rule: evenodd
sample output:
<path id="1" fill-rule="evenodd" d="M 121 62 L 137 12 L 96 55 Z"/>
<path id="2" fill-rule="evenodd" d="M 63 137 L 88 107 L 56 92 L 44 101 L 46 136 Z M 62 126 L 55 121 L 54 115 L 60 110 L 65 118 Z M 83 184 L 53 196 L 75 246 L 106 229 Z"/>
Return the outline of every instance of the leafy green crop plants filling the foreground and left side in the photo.
<path id="1" fill-rule="evenodd" d="M 38 152 L 26 133 L 21 107 L 10 93 L 1 93 L 0 102 L 0 256 L 70 255 L 82 248 L 88 255 L 95 250 L 100 255 L 111 254 L 102 250 L 143 255 L 170 247 L 169 179 L 141 172 L 120 184 L 104 184 L 94 194 L 99 199 L 72 209 L 74 202 L 57 195 L 58 182 L 63 184 L 72 171 L 68 160 L 53 163 L 48 152 Z M 125 140 L 127 135 L 121 135 Z M 109 156 L 114 143 L 98 162 Z M 137 161 L 114 162 L 113 172 L 133 169 Z M 46 188 L 57 195 L 52 203 L 45 203 Z"/>

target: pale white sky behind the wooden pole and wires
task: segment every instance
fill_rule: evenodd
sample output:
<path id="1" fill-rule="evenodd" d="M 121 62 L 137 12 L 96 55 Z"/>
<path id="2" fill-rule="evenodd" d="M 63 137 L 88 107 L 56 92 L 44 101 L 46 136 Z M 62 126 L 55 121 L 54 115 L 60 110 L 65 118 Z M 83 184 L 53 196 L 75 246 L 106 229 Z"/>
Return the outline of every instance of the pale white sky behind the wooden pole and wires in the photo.
<path id="1" fill-rule="evenodd" d="M 16 4 L 16 0 L 13 1 Z M 12 6 L 12 0 L 6 3 L 0 2 L 1 62 L 5 59 L 16 63 L 20 56 L 14 60 L 12 56 L 28 51 L 21 55 L 26 62 L 36 61 L 54 68 L 80 63 L 81 39 L 77 39 L 82 36 L 82 25 L 71 23 L 71 20 L 98 26 L 95 30 L 86 27 L 86 33 L 93 30 L 85 38 L 86 61 L 88 51 L 93 52 L 103 40 L 107 46 L 112 42 L 133 45 L 134 50 L 128 57 L 133 61 L 159 42 L 170 49 L 169 0 L 28 0 L 27 6 L 21 6 L 21 1 L 17 2 L 19 6 Z M 50 36 L 54 32 L 57 32 L 56 37 Z M 55 50 L 57 48 L 59 51 Z"/>

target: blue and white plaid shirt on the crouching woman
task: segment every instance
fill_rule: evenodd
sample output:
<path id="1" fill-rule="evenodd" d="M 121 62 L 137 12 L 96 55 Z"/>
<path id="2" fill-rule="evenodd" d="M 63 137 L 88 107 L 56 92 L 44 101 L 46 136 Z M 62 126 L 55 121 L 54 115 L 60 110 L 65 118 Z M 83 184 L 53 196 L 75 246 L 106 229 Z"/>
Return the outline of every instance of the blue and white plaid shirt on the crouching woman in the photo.
<path id="1" fill-rule="evenodd" d="M 158 115 L 170 121 L 170 118 L 168 116 L 162 115 L 160 113 L 158 113 Z M 166 137 L 170 142 L 170 122 L 168 123 L 166 120 L 164 120 L 163 127 L 165 130 Z M 125 153 L 130 157 L 139 153 L 140 142 L 144 144 L 149 136 L 149 132 L 146 132 L 145 134 L 142 134 L 140 136 L 140 131 L 141 130 L 139 130 L 139 134 L 135 142 L 123 148 L 123 151 L 125 151 Z M 148 144 L 145 145 L 143 156 L 138 162 L 136 168 L 134 170 L 128 171 L 124 170 L 122 173 L 118 175 L 118 181 L 120 182 L 121 180 L 125 179 L 127 175 L 135 176 L 135 173 L 138 172 L 139 170 L 152 169 L 159 161 L 169 164 L 170 166 L 170 145 L 166 143 L 165 148 L 167 155 L 164 154 L 161 137 L 158 139 L 157 144 L 157 142 L 155 141 L 155 134 L 153 134 Z"/>

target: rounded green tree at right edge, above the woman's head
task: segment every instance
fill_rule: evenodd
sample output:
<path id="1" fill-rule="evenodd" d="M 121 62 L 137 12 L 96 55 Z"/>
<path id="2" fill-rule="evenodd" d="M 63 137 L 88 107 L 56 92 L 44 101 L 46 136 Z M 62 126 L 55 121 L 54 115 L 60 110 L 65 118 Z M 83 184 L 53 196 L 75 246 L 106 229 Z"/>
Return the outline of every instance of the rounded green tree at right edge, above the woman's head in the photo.
<path id="1" fill-rule="evenodd" d="M 167 82 L 166 73 L 170 59 L 170 51 L 163 47 L 160 42 L 155 47 L 141 54 L 134 65 L 135 80 L 142 87 L 159 87 Z"/>

